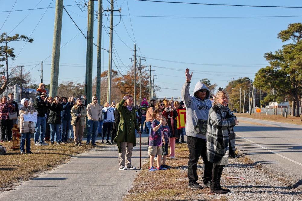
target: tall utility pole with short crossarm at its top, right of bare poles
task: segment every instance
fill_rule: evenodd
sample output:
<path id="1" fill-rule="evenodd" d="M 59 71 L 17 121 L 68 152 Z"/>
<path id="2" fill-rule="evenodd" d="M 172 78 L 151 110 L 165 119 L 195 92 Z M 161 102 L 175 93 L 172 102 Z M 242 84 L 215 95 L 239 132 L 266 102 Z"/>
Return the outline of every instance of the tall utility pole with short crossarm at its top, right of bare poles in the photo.
<path id="1" fill-rule="evenodd" d="M 113 11 L 121 11 L 121 8 L 118 10 L 113 10 L 113 0 L 111 0 L 111 9 L 107 8 L 107 12 L 111 12 L 110 17 L 110 47 L 109 47 L 109 66 L 108 66 L 108 87 L 107 87 L 107 102 L 111 102 L 111 69 L 112 69 L 112 37 L 113 37 Z"/>

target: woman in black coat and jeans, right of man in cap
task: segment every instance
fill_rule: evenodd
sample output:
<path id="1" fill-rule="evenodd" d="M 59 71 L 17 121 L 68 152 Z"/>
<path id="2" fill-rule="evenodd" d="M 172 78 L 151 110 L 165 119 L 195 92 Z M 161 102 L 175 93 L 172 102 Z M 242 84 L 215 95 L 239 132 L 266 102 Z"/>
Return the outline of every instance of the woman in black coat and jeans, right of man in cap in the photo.
<path id="1" fill-rule="evenodd" d="M 58 96 L 55 97 L 53 103 L 48 105 L 50 109 L 49 117 L 47 123 L 50 125 L 50 144 L 53 144 L 54 139 L 56 139 L 57 144 L 60 144 L 61 133 L 60 133 L 60 125 L 61 125 L 61 111 L 63 111 L 63 105 L 60 104 L 60 98 Z"/>

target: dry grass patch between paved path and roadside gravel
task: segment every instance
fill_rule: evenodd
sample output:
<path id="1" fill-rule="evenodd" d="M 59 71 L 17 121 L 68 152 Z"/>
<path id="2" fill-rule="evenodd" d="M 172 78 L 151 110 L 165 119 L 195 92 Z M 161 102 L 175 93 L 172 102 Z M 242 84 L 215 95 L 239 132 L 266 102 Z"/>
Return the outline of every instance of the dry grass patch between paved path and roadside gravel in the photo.
<path id="1" fill-rule="evenodd" d="M 210 199 L 209 189 L 189 190 L 188 189 L 188 156 L 187 144 L 176 144 L 175 159 L 166 160 L 166 164 L 172 168 L 162 171 L 149 172 L 149 163 L 142 166 L 143 171 L 133 182 L 133 188 L 123 200 L 196 200 L 199 194 L 203 194 L 205 199 Z M 200 159 L 201 161 L 201 159 Z M 202 164 L 202 162 L 200 162 Z M 202 175 L 203 168 L 198 168 L 197 174 Z M 226 199 L 220 199 L 226 200 Z"/>

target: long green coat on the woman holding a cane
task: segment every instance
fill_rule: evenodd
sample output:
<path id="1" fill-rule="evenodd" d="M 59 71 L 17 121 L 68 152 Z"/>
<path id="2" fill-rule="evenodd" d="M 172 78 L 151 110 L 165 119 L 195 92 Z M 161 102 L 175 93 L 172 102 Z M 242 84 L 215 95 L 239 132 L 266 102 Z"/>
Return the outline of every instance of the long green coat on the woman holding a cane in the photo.
<path id="1" fill-rule="evenodd" d="M 121 142 L 133 143 L 133 147 L 136 146 L 135 129 L 140 131 L 140 127 L 137 125 L 137 118 L 135 114 L 135 109 L 129 111 L 124 106 L 125 100 L 122 99 L 120 103 L 116 106 L 117 110 L 120 112 L 120 123 L 118 124 L 117 135 L 114 138 L 114 142 L 117 144 L 118 152 L 122 152 L 120 148 Z"/>

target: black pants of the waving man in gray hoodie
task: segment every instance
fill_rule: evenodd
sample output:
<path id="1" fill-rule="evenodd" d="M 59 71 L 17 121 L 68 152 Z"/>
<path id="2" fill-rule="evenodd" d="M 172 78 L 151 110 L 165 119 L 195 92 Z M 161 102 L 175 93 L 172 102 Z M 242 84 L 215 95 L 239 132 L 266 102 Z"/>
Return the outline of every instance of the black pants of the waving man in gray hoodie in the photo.
<path id="1" fill-rule="evenodd" d="M 187 136 L 187 143 L 189 148 L 189 162 L 188 162 L 188 178 L 189 184 L 195 183 L 198 180 L 197 176 L 197 162 L 201 156 L 204 161 L 204 176 L 203 183 L 207 184 L 212 179 L 213 163 L 207 160 L 207 141 L 205 139 Z"/>

